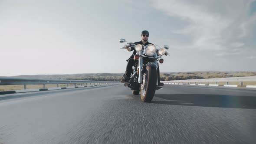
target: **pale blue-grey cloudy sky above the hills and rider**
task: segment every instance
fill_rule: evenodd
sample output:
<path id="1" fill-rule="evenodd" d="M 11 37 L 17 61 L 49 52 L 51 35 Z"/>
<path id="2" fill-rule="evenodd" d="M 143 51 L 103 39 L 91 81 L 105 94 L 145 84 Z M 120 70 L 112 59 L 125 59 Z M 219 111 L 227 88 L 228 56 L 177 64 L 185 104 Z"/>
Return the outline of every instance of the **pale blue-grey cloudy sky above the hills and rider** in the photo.
<path id="1" fill-rule="evenodd" d="M 0 0 L 0 76 L 125 72 L 144 29 L 161 72 L 256 71 L 255 0 Z"/>

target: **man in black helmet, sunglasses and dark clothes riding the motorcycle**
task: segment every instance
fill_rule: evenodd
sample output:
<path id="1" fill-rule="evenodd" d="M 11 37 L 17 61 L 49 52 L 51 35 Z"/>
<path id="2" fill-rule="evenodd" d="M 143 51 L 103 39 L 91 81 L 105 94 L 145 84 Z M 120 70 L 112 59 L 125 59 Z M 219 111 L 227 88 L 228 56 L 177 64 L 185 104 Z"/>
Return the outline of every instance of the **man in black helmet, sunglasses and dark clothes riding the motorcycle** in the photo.
<path id="1" fill-rule="evenodd" d="M 137 44 L 141 44 L 141 45 L 144 45 L 144 46 L 152 44 L 152 43 L 148 42 L 148 37 L 149 37 L 149 32 L 147 30 L 143 30 L 141 32 L 141 41 L 135 42 L 134 44 L 136 44 L 136 45 Z M 135 50 L 134 47 L 130 48 L 129 46 L 126 46 L 125 49 L 127 49 L 128 51 L 132 51 L 133 50 L 133 53 L 130 56 L 130 58 L 126 60 L 128 63 L 127 63 L 127 66 L 126 66 L 125 74 L 123 75 L 123 78 L 121 79 L 122 83 L 129 82 L 129 79 L 130 79 L 130 76 L 131 76 L 131 72 L 132 72 L 132 66 L 135 65 L 135 62 L 134 62 L 133 58 L 134 58 L 134 56 L 136 54 L 136 50 Z M 163 86 L 164 85 L 164 83 L 160 82 L 159 65 L 158 65 L 158 85 L 159 86 Z"/>

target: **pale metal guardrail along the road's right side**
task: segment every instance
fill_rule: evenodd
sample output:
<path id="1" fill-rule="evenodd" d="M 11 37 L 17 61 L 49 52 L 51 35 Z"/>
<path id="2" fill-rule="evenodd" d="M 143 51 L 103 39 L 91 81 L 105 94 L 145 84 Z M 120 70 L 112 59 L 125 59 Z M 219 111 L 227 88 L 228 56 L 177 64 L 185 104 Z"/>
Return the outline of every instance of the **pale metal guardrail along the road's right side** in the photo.
<path id="1" fill-rule="evenodd" d="M 240 82 L 240 85 L 243 85 L 243 82 L 256 82 L 256 76 L 245 76 L 245 77 L 230 77 L 230 78 L 216 78 L 216 79 L 187 79 L 187 80 L 174 80 L 174 81 L 162 81 L 165 83 L 179 83 L 179 84 L 196 84 L 205 82 L 209 85 L 209 82 L 215 82 L 217 85 L 218 82 L 226 82 L 226 85 L 229 85 L 229 82 Z"/>

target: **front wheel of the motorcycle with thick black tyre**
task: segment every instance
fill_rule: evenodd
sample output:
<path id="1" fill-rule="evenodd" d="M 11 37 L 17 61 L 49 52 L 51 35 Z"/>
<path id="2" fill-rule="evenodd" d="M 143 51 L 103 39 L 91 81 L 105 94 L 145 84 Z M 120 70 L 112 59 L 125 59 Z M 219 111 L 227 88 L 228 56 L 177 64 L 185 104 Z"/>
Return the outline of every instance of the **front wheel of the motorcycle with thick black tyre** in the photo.
<path id="1" fill-rule="evenodd" d="M 157 69 L 147 66 L 143 74 L 143 84 L 141 85 L 141 100 L 150 102 L 156 91 Z"/>

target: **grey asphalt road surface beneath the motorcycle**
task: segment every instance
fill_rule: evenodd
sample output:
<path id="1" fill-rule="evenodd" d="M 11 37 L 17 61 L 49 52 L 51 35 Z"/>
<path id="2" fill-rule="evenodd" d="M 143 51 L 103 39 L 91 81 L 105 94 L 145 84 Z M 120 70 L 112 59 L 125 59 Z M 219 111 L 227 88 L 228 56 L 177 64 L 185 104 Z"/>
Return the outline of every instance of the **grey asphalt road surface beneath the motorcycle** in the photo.
<path id="1" fill-rule="evenodd" d="M 0 95 L 0 144 L 256 141 L 256 90 L 165 85 L 151 103 L 123 85 Z"/>

